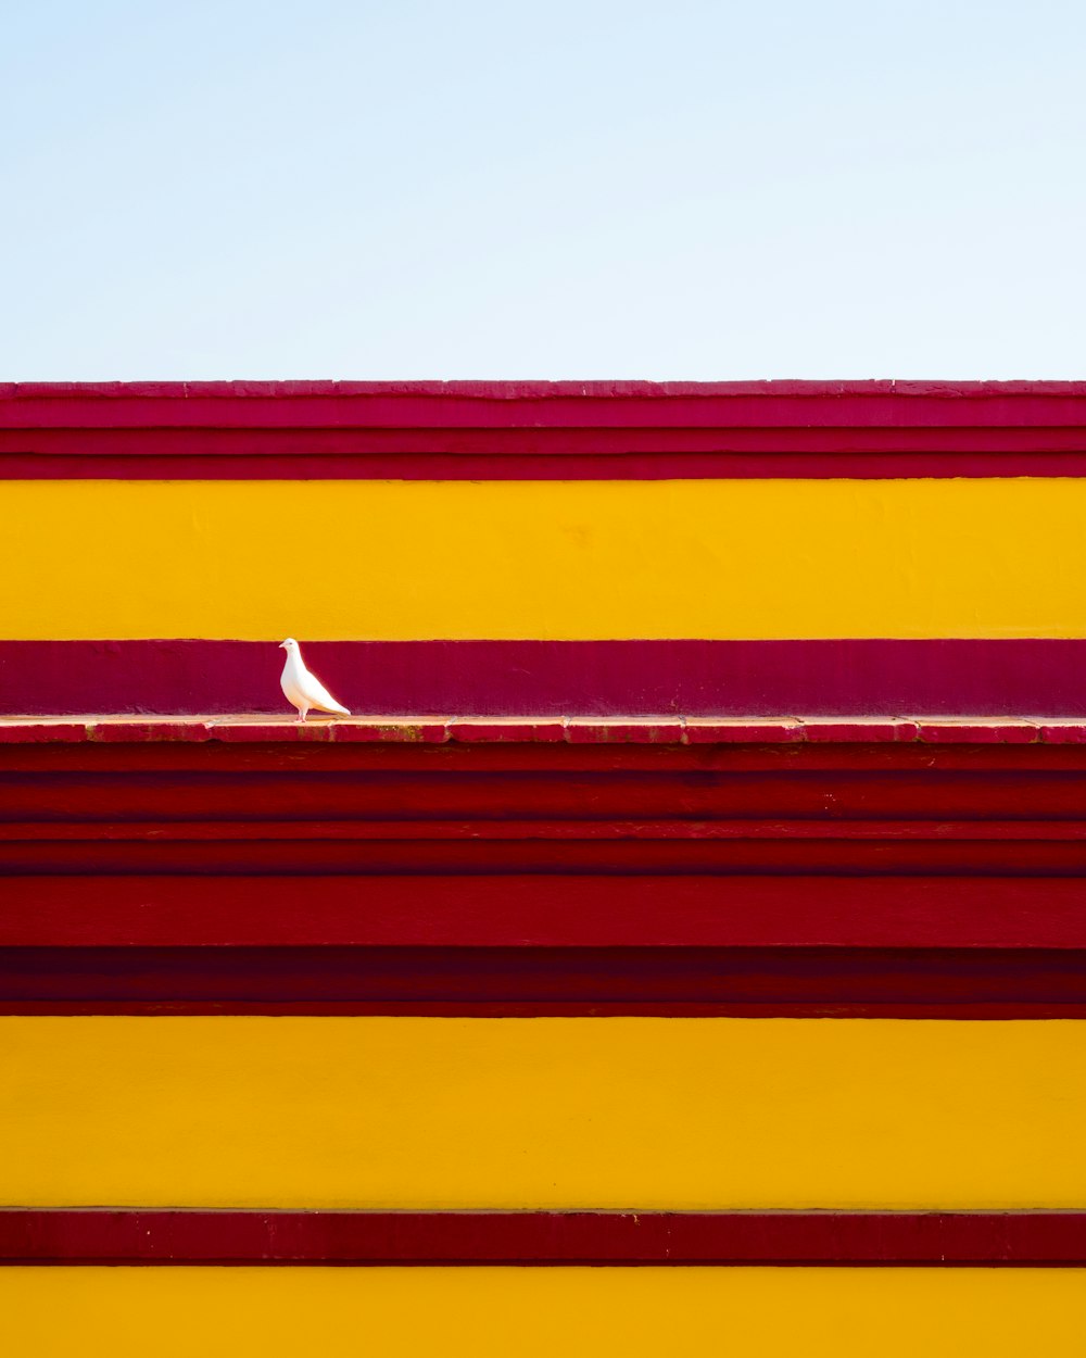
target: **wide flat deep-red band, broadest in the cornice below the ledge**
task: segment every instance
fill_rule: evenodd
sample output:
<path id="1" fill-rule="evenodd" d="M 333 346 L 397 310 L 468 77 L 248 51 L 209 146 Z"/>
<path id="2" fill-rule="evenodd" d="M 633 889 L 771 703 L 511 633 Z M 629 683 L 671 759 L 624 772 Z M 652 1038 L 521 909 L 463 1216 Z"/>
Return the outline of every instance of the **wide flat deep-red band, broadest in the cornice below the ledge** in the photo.
<path id="1" fill-rule="evenodd" d="M 1086 877 L 20 876 L 0 947 L 1086 948 Z"/>

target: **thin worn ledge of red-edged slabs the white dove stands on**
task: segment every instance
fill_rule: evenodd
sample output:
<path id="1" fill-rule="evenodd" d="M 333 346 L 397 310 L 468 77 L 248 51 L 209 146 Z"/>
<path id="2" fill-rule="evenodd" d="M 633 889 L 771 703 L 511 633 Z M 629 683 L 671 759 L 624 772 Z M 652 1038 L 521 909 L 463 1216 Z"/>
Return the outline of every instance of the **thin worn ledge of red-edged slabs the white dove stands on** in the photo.
<path id="1" fill-rule="evenodd" d="M 0 717 L 0 744 L 143 744 L 155 741 L 380 744 L 1047 744 L 1086 743 L 1086 720 L 1029 717 L 443 717 L 311 718 L 64 716 Z"/>

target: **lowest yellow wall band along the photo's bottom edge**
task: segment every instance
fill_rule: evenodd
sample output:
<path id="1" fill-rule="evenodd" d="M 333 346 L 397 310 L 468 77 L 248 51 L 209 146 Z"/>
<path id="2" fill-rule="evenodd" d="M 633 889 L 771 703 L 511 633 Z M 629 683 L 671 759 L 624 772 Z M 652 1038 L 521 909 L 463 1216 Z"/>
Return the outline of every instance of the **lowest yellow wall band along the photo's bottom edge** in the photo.
<path id="1" fill-rule="evenodd" d="M 26 1358 L 1081 1358 L 1059 1268 L 7 1268 Z"/>

